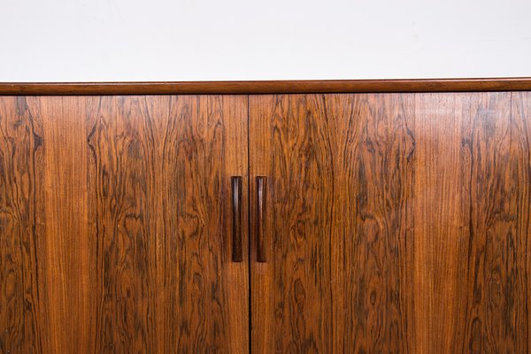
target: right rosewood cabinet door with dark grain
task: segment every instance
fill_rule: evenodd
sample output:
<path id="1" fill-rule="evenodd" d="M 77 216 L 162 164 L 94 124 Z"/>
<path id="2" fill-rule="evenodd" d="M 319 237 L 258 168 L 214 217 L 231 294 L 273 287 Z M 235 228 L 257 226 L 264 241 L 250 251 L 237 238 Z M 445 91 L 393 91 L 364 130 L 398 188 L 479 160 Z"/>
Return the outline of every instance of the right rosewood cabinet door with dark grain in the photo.
<path id="1" fill-rule="evenodd" d="M 250 96 L 252 352 L 529 352 L 530 102 Z"/>

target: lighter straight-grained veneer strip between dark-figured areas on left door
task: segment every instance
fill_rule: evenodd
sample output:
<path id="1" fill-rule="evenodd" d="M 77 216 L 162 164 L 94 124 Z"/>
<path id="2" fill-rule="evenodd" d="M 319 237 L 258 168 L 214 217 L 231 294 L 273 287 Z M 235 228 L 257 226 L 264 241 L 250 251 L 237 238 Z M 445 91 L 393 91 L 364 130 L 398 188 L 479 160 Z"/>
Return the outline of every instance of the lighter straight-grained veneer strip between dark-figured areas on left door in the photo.
<path id="1" fill-rule="evenodd" d="M 42 124 L 44 352 L 94 351 L 94 243 L 90 237 L 86 119 L 96 97 L 28 97 Z M 36 183 L 40 183 L 36 180 Z"/>

